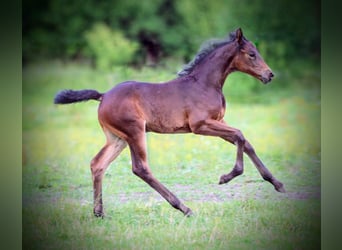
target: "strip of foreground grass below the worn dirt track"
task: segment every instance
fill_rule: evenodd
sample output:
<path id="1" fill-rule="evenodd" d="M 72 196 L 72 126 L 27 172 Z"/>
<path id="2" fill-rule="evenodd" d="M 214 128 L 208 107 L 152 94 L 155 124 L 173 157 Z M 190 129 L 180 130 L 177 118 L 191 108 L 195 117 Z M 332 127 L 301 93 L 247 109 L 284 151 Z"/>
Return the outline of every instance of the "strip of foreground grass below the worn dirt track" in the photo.
<path id="1" fill-rule="evenodd" d="M 60 199 L 24 209 L 26 249 L 319 249 L 315 201 L 190 203 L 186 218 L 166 204 L 127 203 L 94 218 Z M 76 211 L 75 211 L 75 208 Z M 34 239 L 34 241 L 32 240 Z"/>

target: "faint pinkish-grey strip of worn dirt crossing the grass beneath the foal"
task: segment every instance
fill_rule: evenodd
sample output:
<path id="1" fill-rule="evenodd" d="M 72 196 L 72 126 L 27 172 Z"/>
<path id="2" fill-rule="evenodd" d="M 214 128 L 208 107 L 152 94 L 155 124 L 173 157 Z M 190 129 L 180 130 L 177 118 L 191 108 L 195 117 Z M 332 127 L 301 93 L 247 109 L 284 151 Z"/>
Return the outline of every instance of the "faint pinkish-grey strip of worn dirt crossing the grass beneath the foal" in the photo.
<path id="1" fill-rule="evenodd" d="M 229 202 L 234 200 L 309 200 L 320 199 L 320 186 L 301 186 L 287 187 L 286 193 L 276 192 L 273 186 L 265 181 L 242 181 L 232 182 L 225 185 L 218 184 L 174 184 L 167 187 L 184 202 Z M 92 194 L 91 190 L 88 190 Z M 23 205 L 58 202 L 60 199 L 71 199 L 75 202 L 79 200 L 75 198 L 63 197 L 61 193 L 54 193 L 47 196 L 45 193 L 36 193 L 34 196 L 23 197 Z M 82 200 L 83 205 L 92 204 L 92 195 Z M 146 192 L 121 192 L 121 193 L 105 193 L 105 204 L 110 202 L 125 204 L 129 202 L 165 202 L 165 200 L 152 188 Z"/>

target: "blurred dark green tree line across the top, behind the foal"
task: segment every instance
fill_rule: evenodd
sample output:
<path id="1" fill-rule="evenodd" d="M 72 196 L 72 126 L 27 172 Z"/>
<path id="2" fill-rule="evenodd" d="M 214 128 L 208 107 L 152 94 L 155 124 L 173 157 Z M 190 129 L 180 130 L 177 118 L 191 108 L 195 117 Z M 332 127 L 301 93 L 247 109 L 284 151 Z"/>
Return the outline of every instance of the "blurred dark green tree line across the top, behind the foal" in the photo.
<path id="1" fill-rule="evenodd" d="M 140 44 L 137 57 L 189 60 L 199 45 L 242 27 L 277 67 L 320 56 L 320 1 L 34 0 L 23 3 L 23 57 L 86 56 L 84 31 L 106 23 Z"/>

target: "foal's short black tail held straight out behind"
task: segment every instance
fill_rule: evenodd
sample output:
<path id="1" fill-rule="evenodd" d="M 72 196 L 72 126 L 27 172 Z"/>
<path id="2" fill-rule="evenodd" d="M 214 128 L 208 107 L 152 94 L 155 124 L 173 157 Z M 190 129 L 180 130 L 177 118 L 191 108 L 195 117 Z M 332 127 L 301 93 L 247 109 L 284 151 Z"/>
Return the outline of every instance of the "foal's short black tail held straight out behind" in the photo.
<path id="1" fill-rule="evenodd" d="M 103 94 L 92 89 L 71 90 L 66 89 L 58 92 L 54 98 L 55 104 L 68 104 L 89 100 L 101 101 Z"/>

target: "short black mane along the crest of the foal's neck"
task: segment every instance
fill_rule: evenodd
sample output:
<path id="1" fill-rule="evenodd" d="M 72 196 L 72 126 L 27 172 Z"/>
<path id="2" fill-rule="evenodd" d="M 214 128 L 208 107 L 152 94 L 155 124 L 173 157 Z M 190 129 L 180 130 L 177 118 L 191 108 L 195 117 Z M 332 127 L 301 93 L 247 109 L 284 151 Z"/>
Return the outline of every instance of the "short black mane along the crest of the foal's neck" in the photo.
<path id="1" fill-rule="evenodd" d="M 186 76 L 189 75 L 192 70 L 211 52 L 214 50 L 230 43 L 235 39 L 235 32 L 229 34 L 227 38 L 223 39 L 210 39 L 204 42 L 195 57 L 186 65 L 183 66 L 183 69 L 180 70 L 177 75 L 178 76 Z"/>

